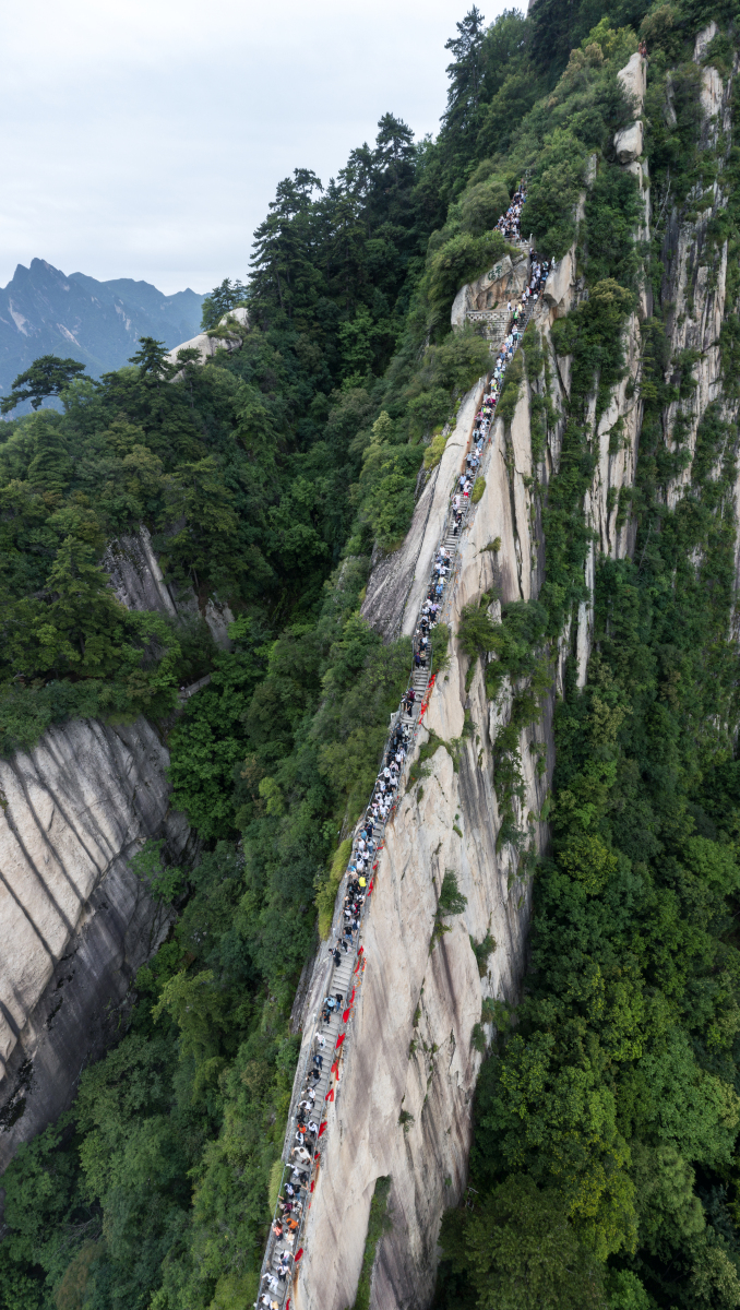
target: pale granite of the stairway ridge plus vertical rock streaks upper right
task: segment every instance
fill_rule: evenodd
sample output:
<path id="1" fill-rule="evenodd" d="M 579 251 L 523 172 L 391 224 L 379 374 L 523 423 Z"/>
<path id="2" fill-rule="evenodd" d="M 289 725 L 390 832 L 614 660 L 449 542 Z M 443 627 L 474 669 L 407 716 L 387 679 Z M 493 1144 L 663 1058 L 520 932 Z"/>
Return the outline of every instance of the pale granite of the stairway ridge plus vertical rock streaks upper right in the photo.
<path id="1" fill-rule="evenodd" d="M 697 38 L 697 63 L 712 35 L 710 25 Z M 644 60 L 633 56 L 621 76 L 633 96 L 635 122 L 618 134 L 614 144 L 622 168 L 638 179 L 644 221 L 635 237 L 646 240 L 651 200 L 647 162 L 640 159 Z M 703 69 L 701 77 L 709 148 L 716 144 L 718 132 L 730 131 L 728 92 L 714 69 Z M 595 176 L 593 166 L 588 183 Z M 582 223 L 584 202 L 585 193 L 579 206 Z M 720 397 L 718 338 L 724 313 L 727 246 L 720 249 L 711 269 L 703 253 L 707 223 L 720 204 L 722 178 L 714 189 L 712 207 L 698 221 L 681 225 L 673 217 L 664 241 L 661 301 L 672 307 L 671 355 L 694 350 L 698 356 L 685 438 L 692 456 L 701 415 Z M 564 421 L 561 417 L 549 426 L 544 456 L 536 462 L 530 410 L 536 397 L 546 394 L 554 411 L 562 415 L 570 394 L 571 359 L 557 355 L 551 328 L 587 295 L 576 249 L 574 242 L 550 274 L 534 313 L 545 368 L 538 379 L 523 385 L 511 426 L 504 427 L 502 421 L 494 426 L 482 470 L 486 490 L 461 544 L 449 609 L 443 616 L 453 633 L 462 607 L 492 584 L 503 601 L 528 600 L 537 596 L 544 580 L 541 510 L 547 485 L 558 472 Z M 509 278 L 516 271 L 516 267 L 503 270 Z M 492 322 L 498 296 L 487 290 L 491 280 L 491 274 L 486 274 L 462 288 L 453 322 L 461 325 L 466 316 L 485 317 L 486 310 Z M 651 312 L 652 292 L 643 283 L 625 329 L 623 376 L 597 423 L 596 396 L 591 402 L 595 465 L 584 503 L 584 516 L 593 531 L 585 563 L 591 597 L 597 555 L 623 558 L 634 553 L 637 527 L 629 506 L 643 419 L 640 321 Z M 456 430 L 418 502 L 405 545 L 381 561 L 371 576 L 364 613 L 386 637 L 414 630 L 481 392 L 482 384 L 460 407 Z M 667 432 L 672 430 L 676 410 L 677 403 L 664 415 Z M 669 490 L 669 503 L 676 502 L 688 477 L 688 470 L 678 474 Z M 500 549 L 487 550 L 496 537 Z M 515 799 L 515 808 L 520 829 L 529 833 L 532 850 L 541 850 L 547 841 L 546 821 L 540 816 L 546 814 L 551 781 L 553 710 L 562 688 L 564 656 L 568 652 L 576 656 L 578 681 L 583 685 L 591 641 L 592 600 L 588 600 L 561 635 L 553 688 L 541 720 L 520 738 L 524 800 Z M 343 1310 L 352 1303 L 369 1203 L 381 1175 L 392 1179 L 393 1227 L 377 1248 L 371 1305 L 376 1310 L 428 1306 L 441 1212 L 458 1203 L 465 1188 L 472 1096 L 481 1061 L 472 1045 L 472 1030 L 481 1019 L 485 997 L 513 1000 L 521 988 L 530 888 L 520 855 L 499 840 L 494 749 L 496 732 L 508 722 L 512 689 L 504 684 L 498 702 L 489 703 L 481 669 L 469 692 L 465 690 L 466 665 L 453 641 L 449 669 L 437 680 L 426 730 L 420 732 L 422 741 L 430 731 L 448 743 L 461 739 L 457 749 L 436 751 L 428 762 L 428 777 L 406 794 L 386 831 L 364 934 L 367 967 L 344 1047 L 341 1090 L 329 1112 L 320 1182 L 296 1285 L 296 1305 L 301 1310 Z M 537 768 L 538 758 L 542 762 Z M 457 874 L 468 905 L 452 930 L 430 950 L 436 899 L 447 869 Z M 496 948 L 481 977 L 470 939 L 479 942 L 486 933 L 495 938 Z M 318 965 L 308 1013 L 316 1009 L 326 981 L 325 969 Z M 411 1116 L 403 1125 L 401 1111 Z"/>

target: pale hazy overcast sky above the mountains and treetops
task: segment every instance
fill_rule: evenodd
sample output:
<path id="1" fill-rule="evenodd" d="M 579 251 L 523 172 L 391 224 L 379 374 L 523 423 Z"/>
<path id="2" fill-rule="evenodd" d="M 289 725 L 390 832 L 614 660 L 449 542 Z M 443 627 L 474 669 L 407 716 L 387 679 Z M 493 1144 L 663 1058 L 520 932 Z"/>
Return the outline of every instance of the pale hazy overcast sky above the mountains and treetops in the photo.
<path id="1" fill-rule="evenodd" d="M 34 255 L 165 292 L 246 276 L 293 168 L 326 182 L 386 110 L 436 134 L 470 3 L 4 5 L 0 286 Z"/>

